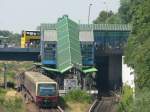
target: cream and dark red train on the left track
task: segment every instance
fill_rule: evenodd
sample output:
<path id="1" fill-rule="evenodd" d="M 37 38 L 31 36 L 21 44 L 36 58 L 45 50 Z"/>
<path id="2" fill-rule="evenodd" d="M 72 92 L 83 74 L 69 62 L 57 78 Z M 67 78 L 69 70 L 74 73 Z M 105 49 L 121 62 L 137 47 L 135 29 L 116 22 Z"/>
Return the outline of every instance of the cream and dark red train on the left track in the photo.
<path id="1" fill-rule="evenodd" d="M 24 72 L 19 79 L 20 87 L 37 105 L 57 106 L 59 97 L 57 82 L 39 72 Z"/>

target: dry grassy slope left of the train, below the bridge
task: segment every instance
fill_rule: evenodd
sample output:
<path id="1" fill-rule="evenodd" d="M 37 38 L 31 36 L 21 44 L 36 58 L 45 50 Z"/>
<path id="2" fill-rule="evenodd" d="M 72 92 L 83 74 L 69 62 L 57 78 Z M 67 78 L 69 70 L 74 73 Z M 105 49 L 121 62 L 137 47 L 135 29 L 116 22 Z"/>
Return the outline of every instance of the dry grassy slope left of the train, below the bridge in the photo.
<path id="1" fill-rule="evenodd" d="M 7 64 L 7 82 L 12 83 L 15 83 L 16 74 L 25 71 L 33 64 L 33 62 L 0 61 L 0 78 L 3 78 L 4 63 Z M 0 88 L 0 112 L 25 112 L 25 104 L 20 96 L 11 96 L 7 99 L 6 95 L 11 91 L 12 89 Z"/>

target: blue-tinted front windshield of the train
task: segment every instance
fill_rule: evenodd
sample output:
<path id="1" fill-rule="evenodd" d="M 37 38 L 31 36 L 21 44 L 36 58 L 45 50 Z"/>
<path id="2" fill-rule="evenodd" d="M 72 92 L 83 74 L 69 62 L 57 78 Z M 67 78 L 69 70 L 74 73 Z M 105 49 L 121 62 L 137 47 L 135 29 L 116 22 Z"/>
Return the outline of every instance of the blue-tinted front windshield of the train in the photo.
<path id="1" fill-rule="evenodd" d="M 56 95 L 56 84 L 39 84 L 40 96 L 54 96 Z"/>

